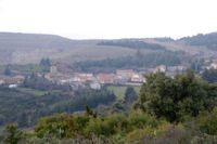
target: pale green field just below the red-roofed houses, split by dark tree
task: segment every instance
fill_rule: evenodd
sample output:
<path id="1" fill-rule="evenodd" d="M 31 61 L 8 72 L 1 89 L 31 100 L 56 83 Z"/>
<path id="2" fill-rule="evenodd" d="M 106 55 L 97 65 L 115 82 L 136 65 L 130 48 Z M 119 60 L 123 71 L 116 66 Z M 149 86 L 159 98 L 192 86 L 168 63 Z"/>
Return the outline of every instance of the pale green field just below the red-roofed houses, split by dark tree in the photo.
<path id="1" fill-rule="evenodd" d="M 133 87 L 135 91 L 139 93 L 140 87 Z M 110 86 L 107 87 L 108 91 L 113 91 L 115 95 L 117 96 L 117 100 L 123 100 L 125 97 L 125 91 L 127 89 L 127 86 Z"/>

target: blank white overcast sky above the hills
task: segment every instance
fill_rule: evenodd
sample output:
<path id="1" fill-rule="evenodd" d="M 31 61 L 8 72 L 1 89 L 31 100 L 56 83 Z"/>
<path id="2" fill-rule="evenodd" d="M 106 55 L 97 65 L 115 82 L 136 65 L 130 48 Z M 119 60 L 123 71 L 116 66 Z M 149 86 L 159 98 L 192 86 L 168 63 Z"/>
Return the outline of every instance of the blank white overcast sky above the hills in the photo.
<path id="1" fill-rule="evenodd" d="M 177 39 L 217 31 L 216 5 L 217 0 L 0 0 L 0 31 Z"/>

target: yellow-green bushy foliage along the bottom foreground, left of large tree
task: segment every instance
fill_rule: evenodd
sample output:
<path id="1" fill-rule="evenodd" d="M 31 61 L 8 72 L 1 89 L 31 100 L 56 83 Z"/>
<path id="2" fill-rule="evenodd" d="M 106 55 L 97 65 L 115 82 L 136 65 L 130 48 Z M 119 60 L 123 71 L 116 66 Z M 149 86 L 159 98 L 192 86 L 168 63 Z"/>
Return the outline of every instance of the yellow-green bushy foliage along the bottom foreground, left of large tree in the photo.
<path id="1" fill-rule="evenodd" d="M 53 138 L 78 138 L 82 134 L 86 138 L 92 138 L 92 134 L 98 136 L 112 136 L 116 134 L 125 135 L 128 132 L 149 126 L 157 128 L 163 121 L 157 121 L 154 117 L 145 114 L 135 114 L 130 117 L 123 115 L 108 115 L 106 117 L 92 116 L 72 116 L 72 115 L 53 115 L 41 118 L 35 128 L 35 134 L 43 138 L 50 134 Z"/>

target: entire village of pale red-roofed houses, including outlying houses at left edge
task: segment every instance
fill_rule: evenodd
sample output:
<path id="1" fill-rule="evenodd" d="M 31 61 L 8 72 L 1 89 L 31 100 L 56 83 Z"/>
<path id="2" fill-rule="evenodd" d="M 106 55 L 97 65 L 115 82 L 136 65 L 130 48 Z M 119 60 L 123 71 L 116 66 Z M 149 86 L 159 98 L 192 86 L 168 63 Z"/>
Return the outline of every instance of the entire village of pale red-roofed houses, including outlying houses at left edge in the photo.
<path id="1" fill-rule="evenodd" d="M 215 67 L 214 64 L 210 66 Z M 140 69 L 116 69 L 114 73 L 82 73 L 74 71 L 64 64 L 52 64 L 49 73 L 36 73 L 38 77 L 43 77 L 52 83 L 69 84 L 72 88 L 90 87 L 100 90 L 104 84 L 113 86 L 141 86 L 145 82 L 144 75 L 150 73 L 163 71 L 167 76 L 174 77 L 176 74 L 183 74 L 186 66 L 165 66 L 159 65 L 154 68 Z M 27 75 L 28 76 L 28 75 Z M 18 87 L 27 77 L 17 73 L 11 77 L 0 79 L 0 84 L 7 84 L 9 88 Z"/>

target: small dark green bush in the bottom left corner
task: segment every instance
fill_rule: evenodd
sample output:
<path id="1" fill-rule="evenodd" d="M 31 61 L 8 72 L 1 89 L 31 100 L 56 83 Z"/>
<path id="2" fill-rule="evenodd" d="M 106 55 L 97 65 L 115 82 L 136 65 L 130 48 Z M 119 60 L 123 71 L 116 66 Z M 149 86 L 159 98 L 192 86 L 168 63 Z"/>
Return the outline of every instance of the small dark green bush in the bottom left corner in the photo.
<path id="1" fill-rule="evenodd" d="M 5 138 L 7 144 L 17 144 L 22 139 L 22 132 L 17 131 L 17 126 L 9 125 L 7 126 L 8 135 Z"/>

